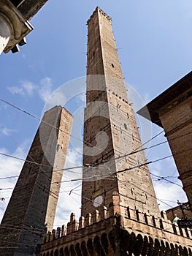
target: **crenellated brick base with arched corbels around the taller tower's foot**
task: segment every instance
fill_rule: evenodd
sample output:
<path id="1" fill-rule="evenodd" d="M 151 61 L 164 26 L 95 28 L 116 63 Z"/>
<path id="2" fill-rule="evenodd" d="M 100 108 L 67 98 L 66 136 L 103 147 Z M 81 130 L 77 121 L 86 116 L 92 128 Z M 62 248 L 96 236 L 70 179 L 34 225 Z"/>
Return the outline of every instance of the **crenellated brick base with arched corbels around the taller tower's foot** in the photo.
<path id="1" fill-rule="evenodd" d="M 117 200 L 113 200 L 109 208 L 102 206 L 100 212 L 95 210 L 78 221 L 72 213 L 66 226 L 58 227 L 43 238 L 39 256 L 51 255 L 55 251 L 61 253 L 58 255 L 63 255 L 62 252 L 86 255 L 83 250 L 87 255 L 95 255 L 96 250 L 102 251 L 103 255 L 114 255 L 120 249 L 115 243 L 118 236 L 124 252 L 137 249 L 145 255 L 145 250 L 147 253 L 150 249 L 153 253 L 158 250 L 174 252 L 174 255 L 192 255 L 191 230 L 172 224 L 165 211 L 161 211 L 161 218 L 158 218 L 127 207 L 122 216 L 115 202 Z"/>

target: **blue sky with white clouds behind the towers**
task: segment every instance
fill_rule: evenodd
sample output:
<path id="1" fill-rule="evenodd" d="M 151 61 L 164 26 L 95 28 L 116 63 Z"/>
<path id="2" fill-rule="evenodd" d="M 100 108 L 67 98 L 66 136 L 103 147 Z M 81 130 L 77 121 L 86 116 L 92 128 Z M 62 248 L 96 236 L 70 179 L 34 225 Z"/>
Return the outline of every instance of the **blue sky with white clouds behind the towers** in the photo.
<path id="1" fill-rule="evenodd" d="M 85 106 L 86 21 L 97 6 L 112 18 L 128 97 L 135 111 L 191 71 L 189 0 L 47 1 L 30 21 L 34 31 L 26 37 L 28 43 L 18 53 L 0 56 L 1 99 L 37 117 L 0 102 L 0 219 L 17 181 L 17 177 L 7 177 L 18 176 L 23 165 L 22 160 L 2 154 L 25 159 L 39 126 L 38 118 L 48 108 L 64 105 L 74 115 L 66 167 L 82 165 L 82 142 L 77 138 L 82 138 Z M 166 140 L 163 129 L 150 121 L 143 124 L 143 119 L 137 116 L 143 143 L 160 132 L 150 145 Z M 171 152 L 164 143 L 146 154 L 151 161 Z M 187 200 L 172 157 L 149 167 L 151 173 L 169 180 L 152 175 L 156 196 L 164 201 L 158 201 L 161 209 Z M 55 227 L 66 224 L 71 212 L 80 217 L 80 181 L 69 181 L 80 176 L 80 169 L 64 172 Z"/>

